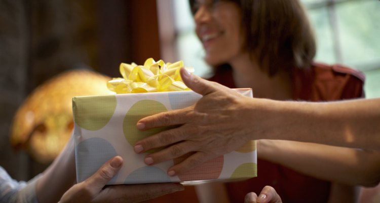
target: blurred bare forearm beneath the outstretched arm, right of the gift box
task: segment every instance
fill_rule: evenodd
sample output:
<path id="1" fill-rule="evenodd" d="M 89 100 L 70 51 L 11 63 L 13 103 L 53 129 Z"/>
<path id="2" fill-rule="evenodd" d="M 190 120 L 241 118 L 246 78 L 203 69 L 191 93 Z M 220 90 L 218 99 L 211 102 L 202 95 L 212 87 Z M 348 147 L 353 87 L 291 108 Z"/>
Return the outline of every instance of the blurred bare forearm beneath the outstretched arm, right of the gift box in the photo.
<path id="1" fill-rule="evenodd" d="M 259 140 L 257 156 L 302 174 L 347 185 L 380 182 L 380 151 L 314 143 Z"/>

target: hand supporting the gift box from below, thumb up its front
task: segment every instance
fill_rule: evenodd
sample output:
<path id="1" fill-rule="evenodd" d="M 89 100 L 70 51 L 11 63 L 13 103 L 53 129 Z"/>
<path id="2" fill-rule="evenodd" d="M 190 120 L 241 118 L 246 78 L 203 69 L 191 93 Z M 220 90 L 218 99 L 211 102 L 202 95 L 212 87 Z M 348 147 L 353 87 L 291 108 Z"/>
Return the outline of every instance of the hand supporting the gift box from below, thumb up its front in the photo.
<path id="1" fill-rule="evenodd" d="M 94 175 L 67 190 L 59 202 L 140 202 L 183 190 L 181 184 L 175 183 L 104 187 L 118 173 L 122 164 L 120 156 L 111 158 Z"/>

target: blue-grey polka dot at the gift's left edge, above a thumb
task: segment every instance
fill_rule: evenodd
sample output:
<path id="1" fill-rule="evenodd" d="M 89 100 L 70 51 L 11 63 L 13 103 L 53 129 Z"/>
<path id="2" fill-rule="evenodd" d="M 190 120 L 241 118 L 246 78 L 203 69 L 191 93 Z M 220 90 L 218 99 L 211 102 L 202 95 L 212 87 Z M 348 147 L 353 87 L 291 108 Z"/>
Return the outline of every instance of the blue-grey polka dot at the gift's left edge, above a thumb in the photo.
<path id="1" fill-rule="evenodd" d="M 77 181 L 82 182 L 86 180 L 98 171 L 100 166 L 116 155 L 115 148 L 104 139 L 90 138 L 80 142 L 75 146 Z M 109 185 L 115 182 L 118 174 L 108 181 Z"/>

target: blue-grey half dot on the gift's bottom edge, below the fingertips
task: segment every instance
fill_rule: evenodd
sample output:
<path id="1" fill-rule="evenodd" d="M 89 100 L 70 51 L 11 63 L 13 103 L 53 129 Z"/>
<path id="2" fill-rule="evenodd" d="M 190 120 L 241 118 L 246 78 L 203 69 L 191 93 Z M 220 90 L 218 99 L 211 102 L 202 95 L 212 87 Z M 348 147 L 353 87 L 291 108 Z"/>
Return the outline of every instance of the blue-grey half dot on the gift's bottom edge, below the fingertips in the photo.
<path id="1" fill-rule="evenodd" d="M 125 179 L 125 184 L 168 183 L 171 182 L 166 172 L 156 166 L 144 166 L 133 171 Z"/>

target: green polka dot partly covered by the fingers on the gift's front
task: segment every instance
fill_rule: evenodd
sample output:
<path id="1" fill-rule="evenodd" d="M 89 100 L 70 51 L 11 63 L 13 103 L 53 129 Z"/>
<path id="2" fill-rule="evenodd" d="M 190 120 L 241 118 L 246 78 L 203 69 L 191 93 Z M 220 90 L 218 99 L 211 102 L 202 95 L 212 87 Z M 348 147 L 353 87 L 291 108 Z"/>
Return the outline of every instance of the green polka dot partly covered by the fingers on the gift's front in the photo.
<path id="1" fill-rule="evenodd" d="M 135 143 L 141 139 L 147 138 L 153 134 L 156 134 L 160 131 L 169 129 L 168 127 L 154 128 L 150 130 L 140 131 L 136 128 L 136 123 L 141 118 L 146 116 L 158 114 L 160 112 L 168 111 L 166 107 L 155 100 L 140 100 L 134 104 L 131 109 L 127 112 L 127 115 L 124 118 L 123 130 L 124 136 L 127 139 L 128 143 L 131 146 L 134 146 Z M 158 149 L 156 149 L 158 150 Z M 149 153 L 156 150 L 150 150 Z"/>

